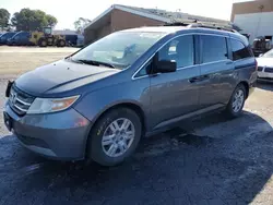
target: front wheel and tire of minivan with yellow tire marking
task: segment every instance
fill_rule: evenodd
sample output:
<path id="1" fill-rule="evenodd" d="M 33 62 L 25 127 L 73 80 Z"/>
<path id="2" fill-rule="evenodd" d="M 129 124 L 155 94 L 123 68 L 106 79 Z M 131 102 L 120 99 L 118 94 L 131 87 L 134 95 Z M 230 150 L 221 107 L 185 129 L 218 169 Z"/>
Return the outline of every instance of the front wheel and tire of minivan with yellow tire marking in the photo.
<path id="1" fill-rule="evenodd" d="M 118 123 L 118 126 L 116 128 L 121 129 L 122 122 L 124 122 L 124 119 L 129 120 L 127 121 L 129 126 L 127 129 L 127 133 L 133 133 L 134 131 L 134 137 L 132 137 L 132 141 L 129 138 L 129 135 L 126 135 L 122 132 L 123 131 L 116 131 L 120 132 L 121 134 L 114 134 L 114 128 L 110 125 L 114 125 L 114 122 L 116 121 Z M 122 121 L 123 120 L 123 121 Z M 91 134 L 88 136 L 87 142 L 87 157 L 96 161 L 97 164 L 102 166 L 116 166 L 118 164 L 123 162 L 127 158 L 129 158 L 135 150 L 135 148 L 139 145 L 140 138 L 141 138 L 141 132 L 142 132 L 142 123 L 140 120 L 140 117 L 131 109 L 128 108 L 117 108 L 112 109 L 108 112 L 106 112 L 94 125 L 94 128 L 91 131 Z M 104 137 L 105 135 L 111 136 L 109 140 Z M 127 140 L 122 137 L 128 137 Z M 120 141 L 119 141 L 119 140 Z M 104 144 L 103 145 L 103 140 Z M 118 144 L 117 144 L 118 142 Z M 124 144 L 127 143 L 127 149 L 123 148 Z M 121 143 L 121 144 L 120 144 Z M 108 145 L 109 144 L 109 145 Z M 110 156 L 110 148 L 111 150 L 116 149 L 117 156 Z M 124 152 L 121 152 L 121 148 L 124 149 Z M 108 154 L 107 154 L 108 152 Z M 114 152 L 112 152 L 114 153 Z"/>

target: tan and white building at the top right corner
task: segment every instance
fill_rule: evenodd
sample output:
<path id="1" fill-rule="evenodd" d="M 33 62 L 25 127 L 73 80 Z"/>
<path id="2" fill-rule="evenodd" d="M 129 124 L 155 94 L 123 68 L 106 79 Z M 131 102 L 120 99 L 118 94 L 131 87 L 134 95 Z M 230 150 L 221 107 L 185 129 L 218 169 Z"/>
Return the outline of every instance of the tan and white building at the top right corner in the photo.
<path id="1" fill-rule="evenodd" d="M 241 33 L 250 35 L 250 43 L 256 37 L 273 36 L 273 0 L 245 1 L 233 4 L 232 22 Z"/>

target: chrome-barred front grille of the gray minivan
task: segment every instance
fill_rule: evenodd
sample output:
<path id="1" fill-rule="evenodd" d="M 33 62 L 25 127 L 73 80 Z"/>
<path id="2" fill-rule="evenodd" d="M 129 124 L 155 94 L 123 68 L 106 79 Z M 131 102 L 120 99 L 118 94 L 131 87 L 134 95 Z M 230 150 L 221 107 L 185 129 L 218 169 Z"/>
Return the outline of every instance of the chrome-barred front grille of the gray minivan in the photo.
<path id="1" fill-rule="evenodd" d="M 9 105 L 19 116 L 24 116 L 27 112 L 34 99 L 33 96 L 22 92 L 15 85 L 11 87 Z"/>

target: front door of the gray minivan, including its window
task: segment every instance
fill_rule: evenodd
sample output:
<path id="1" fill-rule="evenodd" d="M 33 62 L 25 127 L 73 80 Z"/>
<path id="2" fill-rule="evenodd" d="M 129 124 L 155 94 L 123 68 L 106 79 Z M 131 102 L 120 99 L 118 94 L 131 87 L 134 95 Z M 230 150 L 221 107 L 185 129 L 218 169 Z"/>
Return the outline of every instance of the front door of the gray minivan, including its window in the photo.
<path id="1" fill-rule="evenodd" d="M 200 75 L 195 64 L 194 36 L 185 35 L 170 40 L 158 51 L 158 60 L 177 62 L 177 71 L 151 76 L 152 126 L 198 110 L 199 86 L 190 80 Z"/>

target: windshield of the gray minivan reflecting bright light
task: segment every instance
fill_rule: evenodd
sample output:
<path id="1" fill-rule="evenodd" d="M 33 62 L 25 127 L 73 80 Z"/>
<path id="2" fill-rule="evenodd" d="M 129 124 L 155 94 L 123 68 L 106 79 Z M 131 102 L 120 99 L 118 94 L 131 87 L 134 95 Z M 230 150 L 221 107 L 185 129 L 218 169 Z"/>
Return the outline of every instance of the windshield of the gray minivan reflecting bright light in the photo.
<path id="1" fill-rule="evenodd" d="M 112 68 L 124 69 L 151 48 L 165 33 L 131 33 L 110 34 L 75 53 L 73 61 L 96 61 L 110 64 Z"/>

